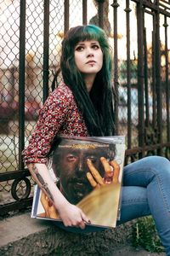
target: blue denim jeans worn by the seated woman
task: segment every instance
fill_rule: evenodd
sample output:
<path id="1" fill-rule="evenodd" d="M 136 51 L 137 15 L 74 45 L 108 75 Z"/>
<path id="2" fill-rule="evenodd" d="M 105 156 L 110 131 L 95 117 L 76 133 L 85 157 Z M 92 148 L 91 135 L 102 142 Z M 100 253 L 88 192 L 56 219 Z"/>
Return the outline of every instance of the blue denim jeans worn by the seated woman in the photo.
<path id="1" fill-rule="evenodd" d="M 117 224 L 150 214 L 170 256 L 170 161 L 160 156 L 145 157 L 124 167 L 121 219 Z M 55 224 L 77 233 L 104 230 L 90 226 L 81 230 Z"/>

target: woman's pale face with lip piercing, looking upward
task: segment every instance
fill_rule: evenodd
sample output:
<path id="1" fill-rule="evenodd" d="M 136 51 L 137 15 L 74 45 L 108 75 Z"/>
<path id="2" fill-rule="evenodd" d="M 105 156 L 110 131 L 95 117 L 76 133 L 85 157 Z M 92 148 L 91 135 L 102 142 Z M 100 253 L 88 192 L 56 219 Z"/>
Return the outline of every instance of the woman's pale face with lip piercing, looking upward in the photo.
<path id="1" fill-rule="evenodd" d="M 75 47 L 75 63 L 85 76 L 95 77 L 103 66 L 103 52 L 99 42 L 95 40 L 79 42 Z"/>

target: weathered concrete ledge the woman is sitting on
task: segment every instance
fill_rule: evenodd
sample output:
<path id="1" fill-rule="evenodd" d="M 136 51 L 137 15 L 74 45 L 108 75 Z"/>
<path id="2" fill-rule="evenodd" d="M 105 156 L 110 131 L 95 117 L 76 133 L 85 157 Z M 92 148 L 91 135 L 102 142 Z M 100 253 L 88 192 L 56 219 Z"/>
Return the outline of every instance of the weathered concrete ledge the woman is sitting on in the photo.
<path id="1" fill-rule="evenodd" d="M 82 235 L 60 230 L 50 221 L 33 219 L 30 215 L 24 213 L 0 222 L 0 255 L 109 256 L 132 238 L 132 222 Z"/>

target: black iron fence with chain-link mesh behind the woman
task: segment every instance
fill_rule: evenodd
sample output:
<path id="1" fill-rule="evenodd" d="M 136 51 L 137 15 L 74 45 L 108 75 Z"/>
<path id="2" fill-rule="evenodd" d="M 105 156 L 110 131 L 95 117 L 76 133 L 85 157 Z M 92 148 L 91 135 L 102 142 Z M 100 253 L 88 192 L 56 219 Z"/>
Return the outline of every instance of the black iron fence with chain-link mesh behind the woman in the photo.
<path id="1" fill-rule="evenodd" d="M 0 0 L 0 15 L 0 215 L 31 206 L 21 152 L 54 75 L 61 79 L 60 44 L 71 26 L 94 23 L 109 37 L 126 164 L 150 154 L 170 158 L 169 0 Z"/>

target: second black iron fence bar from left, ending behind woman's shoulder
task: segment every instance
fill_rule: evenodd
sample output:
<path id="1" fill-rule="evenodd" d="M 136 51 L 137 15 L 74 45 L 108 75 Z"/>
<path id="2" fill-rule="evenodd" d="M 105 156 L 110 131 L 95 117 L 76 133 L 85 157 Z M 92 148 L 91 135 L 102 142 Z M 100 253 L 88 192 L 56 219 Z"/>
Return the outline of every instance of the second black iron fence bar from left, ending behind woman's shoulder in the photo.
<path id="1" fill-rule="evenodd" d="M 48 97 L 48 67 L 49 67 L 49 0 L 44 0 L 43 22 L 43 102 Z"/>

